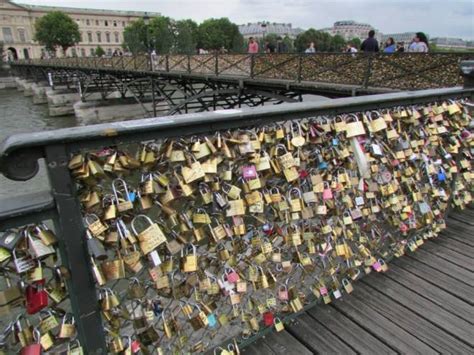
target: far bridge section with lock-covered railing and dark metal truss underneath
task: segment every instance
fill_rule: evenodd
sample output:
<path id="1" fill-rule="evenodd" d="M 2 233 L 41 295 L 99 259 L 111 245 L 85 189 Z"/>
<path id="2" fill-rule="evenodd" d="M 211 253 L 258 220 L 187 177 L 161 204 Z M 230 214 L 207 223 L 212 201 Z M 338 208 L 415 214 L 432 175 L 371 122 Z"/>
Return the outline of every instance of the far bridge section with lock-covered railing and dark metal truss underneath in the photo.
<path id="1" fill-rule="evenodd" d="M 460 53 L 209 54 L 56 58 L 12 64 L 19 76 L 133 97 L 145 117 L 462 84 Z M 132 99 L 131 99 L 132 100 Z M 147 103 L 151 103 L 147 106 Z"/>

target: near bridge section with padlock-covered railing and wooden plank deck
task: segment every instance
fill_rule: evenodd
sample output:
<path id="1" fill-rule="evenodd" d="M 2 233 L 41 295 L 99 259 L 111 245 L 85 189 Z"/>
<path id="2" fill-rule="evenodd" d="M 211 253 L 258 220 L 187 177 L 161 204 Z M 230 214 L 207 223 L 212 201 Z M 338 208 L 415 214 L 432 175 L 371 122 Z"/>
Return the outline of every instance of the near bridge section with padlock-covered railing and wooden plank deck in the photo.
<path id="1" fill-rule="evenodd" d="M 0 201 L 0 349 L 472 353 L 474 63 L 459 72 L 7 138 L 1 174 L 50 186 Z"/>

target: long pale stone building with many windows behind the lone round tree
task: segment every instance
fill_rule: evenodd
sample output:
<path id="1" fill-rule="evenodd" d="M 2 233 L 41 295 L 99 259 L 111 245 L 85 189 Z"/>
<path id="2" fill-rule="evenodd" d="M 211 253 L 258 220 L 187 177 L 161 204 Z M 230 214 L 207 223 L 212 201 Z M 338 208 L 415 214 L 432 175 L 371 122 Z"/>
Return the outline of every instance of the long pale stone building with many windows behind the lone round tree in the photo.
<path id="1" fill-rule="evenodd" d="M 112 55 L 122 47 L 125 27 L 145 16 L 145 12 L 140 11 L 36 6 L 0 0 L 0 42 L 3 42 L 4 53 L 11 59 L 40 58 L 45 55 L 44 47 L 34 41 L 34 28 L 35 22 L 51 11 L 65 12 L 79 25 L 81 42 L 65 53 L 66 56 L 78 57 L 94 55 L 98 46 Z M 159 15 L 148 13 L 150 17 Z M 58 55 L 62 55 L 59 52 Z"/>

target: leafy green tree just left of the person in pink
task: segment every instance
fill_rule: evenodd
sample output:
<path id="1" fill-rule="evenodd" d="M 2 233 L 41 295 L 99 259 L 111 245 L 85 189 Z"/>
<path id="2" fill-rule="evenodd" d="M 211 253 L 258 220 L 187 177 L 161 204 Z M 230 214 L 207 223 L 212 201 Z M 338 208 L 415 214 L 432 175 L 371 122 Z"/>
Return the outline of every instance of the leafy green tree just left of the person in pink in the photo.
<path id="1" fill-rule="evenodd" d="M 208 19 L 199 25 L 198 46 L 205 49 L 225 48 L 232 52 L 241 52 L 244 38 L 239 27 L 228 18 Z"/>

